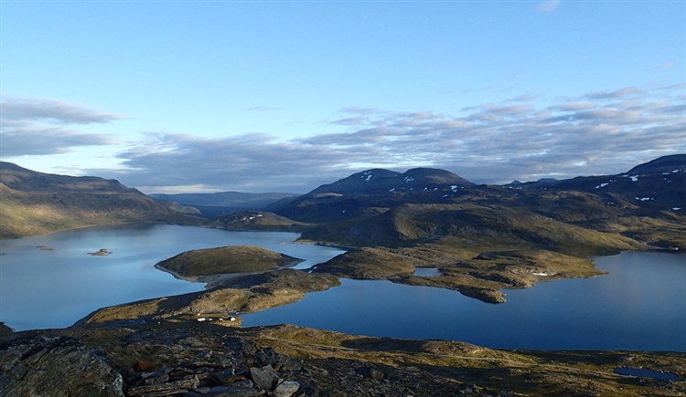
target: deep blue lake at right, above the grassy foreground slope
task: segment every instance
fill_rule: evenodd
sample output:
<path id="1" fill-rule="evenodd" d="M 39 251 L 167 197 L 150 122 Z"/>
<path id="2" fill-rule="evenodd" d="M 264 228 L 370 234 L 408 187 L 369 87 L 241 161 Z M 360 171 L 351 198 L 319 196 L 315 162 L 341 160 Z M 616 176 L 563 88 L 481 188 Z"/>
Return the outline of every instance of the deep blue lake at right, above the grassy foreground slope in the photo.
<path id="1" fill-rule="evenodd" d="M 292 305 L 243 316 L 379 337 L 461 340 L 498 349 L 686 351 L 686 256 L 596 258 L 607 276 L 507 291 L 500 305 L 455 291 L 344 279 Z"/>

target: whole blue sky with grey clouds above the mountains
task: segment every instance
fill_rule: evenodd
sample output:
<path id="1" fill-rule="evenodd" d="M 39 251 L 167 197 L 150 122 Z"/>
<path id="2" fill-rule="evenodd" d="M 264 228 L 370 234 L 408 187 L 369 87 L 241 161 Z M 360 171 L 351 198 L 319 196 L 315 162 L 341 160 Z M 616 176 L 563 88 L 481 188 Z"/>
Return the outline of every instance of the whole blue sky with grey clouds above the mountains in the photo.
<path id="1" fill-rule="evenodd" d="M 0 0 L 0 161 L 144 193 L 686 152 L 686 2 Z"/>

